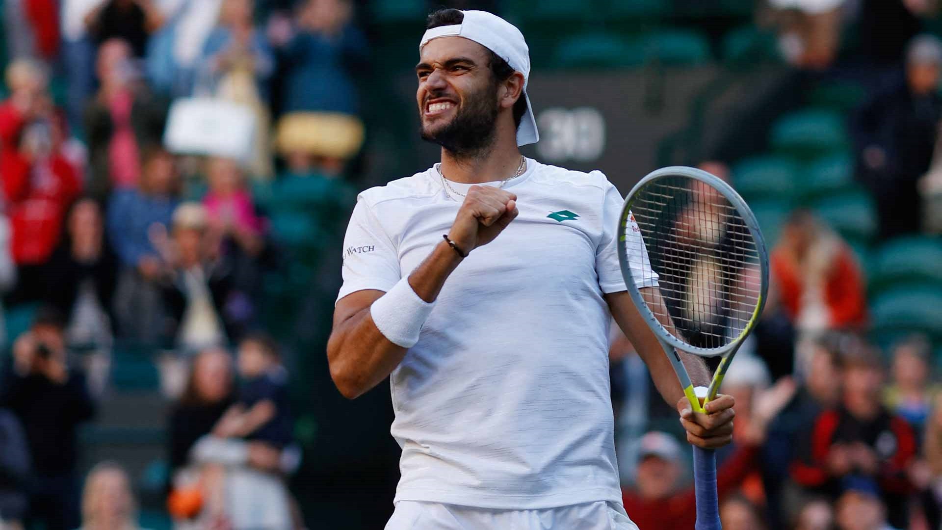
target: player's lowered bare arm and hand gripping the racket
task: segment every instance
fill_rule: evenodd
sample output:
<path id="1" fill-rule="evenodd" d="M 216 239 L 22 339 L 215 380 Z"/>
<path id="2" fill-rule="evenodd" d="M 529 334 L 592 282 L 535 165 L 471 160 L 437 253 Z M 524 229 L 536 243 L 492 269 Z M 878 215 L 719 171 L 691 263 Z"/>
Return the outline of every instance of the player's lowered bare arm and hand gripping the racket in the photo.
<path id="1" fill-rule="evenodd" d="M 660 296 L 656 288 L 642 288 L 645 296 Z M 664 349 L 647 323 L 644 323 L 638 308 L 631 301 L 626 290 L 609 292 L 605 295 L 609 303 L 609 310 L 615 322 L 622 328 L 625 337 L 631 340 L 638 355 L 647 365 L 655 386 L 660 395 L 669 404 L 676 404 L 680 412 L 681 423 L 687 431 L 690 443 L 704 448 L 721 447 L 733 439 L 733 405 L 732 396 L 719 394 L 716 399 L 707 403 L 707 414 L 694 412 L 690 402 L 680 388 L 677 374 L 671 366 L 670 359 L 664 355 Z M 707 363 L 699 356 L 678 352 L 684 367 L 690 373 L 690 380 L 696 386 L 707 386 L 710 373 Z"/>

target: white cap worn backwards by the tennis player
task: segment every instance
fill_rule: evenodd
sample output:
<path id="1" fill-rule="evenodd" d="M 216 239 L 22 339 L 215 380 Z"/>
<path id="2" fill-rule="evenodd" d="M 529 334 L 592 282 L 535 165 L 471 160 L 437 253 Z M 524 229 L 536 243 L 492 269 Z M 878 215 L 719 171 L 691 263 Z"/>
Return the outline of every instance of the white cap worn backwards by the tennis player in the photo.
<path id="1" fill-rule="evenodd" d="M 527 112 L 517 127 L 517 145 L 527 145 L 540 141 L 540 133 L 536 130 L 536 118 L 533 117 L 533 106 L 530 105 L 527 95 L 529 81 L 529 48 L 524 41 L 524 34 L 515 25 L 487 11 L 467 10 L 464 13 L 462 24 L 440 25 L 432 27 L 422 36 L 418 51 L 432 39 L 439 37 L 463 37 L 468 41 L 478 42 L 481 46 L 494 52 L 497 57 L 507 61 L 511 68 L 524 75 L 524 98 L 527 100 Z"/>

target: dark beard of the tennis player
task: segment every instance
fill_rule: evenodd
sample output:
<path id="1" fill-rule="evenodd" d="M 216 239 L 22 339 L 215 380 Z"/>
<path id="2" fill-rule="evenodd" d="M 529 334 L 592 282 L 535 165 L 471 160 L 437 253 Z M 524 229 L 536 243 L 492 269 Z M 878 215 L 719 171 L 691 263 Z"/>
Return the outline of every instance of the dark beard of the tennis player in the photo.
<path id="1" fill-rule="evenodd" d="M 430 99 L 435 97 L 439 96 L 429 94 Z M 421 109 L 419 120 L 422 120 Z M 494 143 L 496 124 L 497 86 L 488 83 L 483 89 L 468 94 L 451 121 L 438 130 L 430 131 L 423 124 L 422 140 L 441 145 L 455 158 L 476 157 Z"/>

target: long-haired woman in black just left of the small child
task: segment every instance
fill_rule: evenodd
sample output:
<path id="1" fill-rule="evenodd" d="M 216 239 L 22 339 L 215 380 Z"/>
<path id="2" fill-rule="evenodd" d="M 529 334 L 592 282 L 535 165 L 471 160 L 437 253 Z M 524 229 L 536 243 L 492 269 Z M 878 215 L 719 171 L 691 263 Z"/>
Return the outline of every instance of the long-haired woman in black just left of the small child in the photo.
<path id="1" fill-rule="evenodd" d="M 234 403 L 232 356 L 210 348 L 193 358 L 183 396 L 171 409 L 168 427 L 171 473 L 189 461 L 196 440 L 209 434 Z"/>

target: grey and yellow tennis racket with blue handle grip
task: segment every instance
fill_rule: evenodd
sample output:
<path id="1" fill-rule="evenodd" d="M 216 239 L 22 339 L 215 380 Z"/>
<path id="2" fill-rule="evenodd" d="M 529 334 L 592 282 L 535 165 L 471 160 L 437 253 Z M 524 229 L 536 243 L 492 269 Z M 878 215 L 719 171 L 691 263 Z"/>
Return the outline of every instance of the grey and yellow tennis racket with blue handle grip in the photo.
<path id="1" fill-rule="evenodd" d="M 693 410 L 716 397 L 769 285 L 769 257 L 752 210 L 712 174 L 674 166 L 642 178 L 619 218 L 618 257 L 642 318 L 671 359 Z M 641 286 L 641 287 L 639 287 Z M 694 389 L 677 351 L 721 356 L 709 388 Z M 696 530 L 720 530 L 716 457 L 693 447 Z"/>

